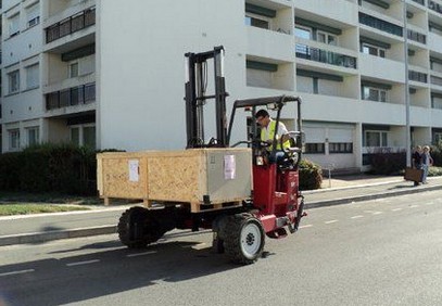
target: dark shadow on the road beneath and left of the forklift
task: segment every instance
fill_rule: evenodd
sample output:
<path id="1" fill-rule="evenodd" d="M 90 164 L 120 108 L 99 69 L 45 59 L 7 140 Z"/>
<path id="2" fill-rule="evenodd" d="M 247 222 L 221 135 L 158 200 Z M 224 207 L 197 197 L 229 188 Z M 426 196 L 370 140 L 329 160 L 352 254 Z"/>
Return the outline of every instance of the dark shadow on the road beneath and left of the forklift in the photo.
<path id="1" fill-rule="evenodd" d="M 200 242 L 166 241 L 142 250 L 118 246 L 121 244 L 116 241 L 89 244 L 56 253 L 112 250 L 2 266 L 0 275 L 34 271 L 1 276 L 0 305 L 79 303 L 159 282 L 180 282 L 241 268 Z"/>

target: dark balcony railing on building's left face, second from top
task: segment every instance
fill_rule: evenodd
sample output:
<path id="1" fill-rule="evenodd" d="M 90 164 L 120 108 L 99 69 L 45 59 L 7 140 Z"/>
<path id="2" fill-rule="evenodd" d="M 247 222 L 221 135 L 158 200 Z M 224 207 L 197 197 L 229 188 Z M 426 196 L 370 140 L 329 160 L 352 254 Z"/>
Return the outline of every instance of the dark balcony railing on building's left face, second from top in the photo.
<path id="1" fill-rule="evenodd" d="M 88 104 L 96 101 L 96 84 L 86 84 L 60 91 L 50 92 L 46 95 L 46 110 Z"/>

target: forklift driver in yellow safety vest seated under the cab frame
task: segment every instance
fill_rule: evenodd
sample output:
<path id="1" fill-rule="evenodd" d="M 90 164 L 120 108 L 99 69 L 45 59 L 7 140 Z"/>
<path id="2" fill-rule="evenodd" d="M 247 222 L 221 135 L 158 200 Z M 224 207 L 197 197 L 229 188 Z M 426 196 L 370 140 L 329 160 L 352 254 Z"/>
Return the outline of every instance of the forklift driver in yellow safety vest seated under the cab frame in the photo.
<path id="1" fill-rule="evenodd" d="M 275 138 L 275 128 L 276 128 L 276 120 L 271 119 L 268 112 L 266 110 L 260 110 L 255 114 L 256 123 L 261 126 L 261 141 L 266 142 L 269 144 L 267 150 L 270 152 L 274 145 L 274 138 Z M 278 133 L 276 135 L 276 160 L 283 157 L 283 152 L 281 148 L 282 138 L 282 145 L 283 148 L 290 148 L 290 136 L 287 127 L 283 123 L 279 122 L 278 124 Z"/>

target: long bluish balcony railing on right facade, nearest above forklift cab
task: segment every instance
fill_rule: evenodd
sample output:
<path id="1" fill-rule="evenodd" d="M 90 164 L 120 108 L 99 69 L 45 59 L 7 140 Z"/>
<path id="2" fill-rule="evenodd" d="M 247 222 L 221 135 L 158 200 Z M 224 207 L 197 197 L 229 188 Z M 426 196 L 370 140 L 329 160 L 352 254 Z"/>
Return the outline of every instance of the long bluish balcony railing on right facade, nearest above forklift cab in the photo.
<path id="1" fill-rule="evenodd" d="M 356 68 L 356 58 L 296 43 L 296 58 L 346 68 Z"/>

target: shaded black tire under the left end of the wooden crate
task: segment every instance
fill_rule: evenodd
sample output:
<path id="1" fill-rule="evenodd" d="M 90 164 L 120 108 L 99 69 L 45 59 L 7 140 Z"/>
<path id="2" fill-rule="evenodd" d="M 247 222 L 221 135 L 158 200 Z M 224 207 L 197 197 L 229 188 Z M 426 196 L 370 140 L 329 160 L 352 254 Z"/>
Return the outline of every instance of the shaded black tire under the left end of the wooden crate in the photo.
<path id="1" fill-rule="evenodd" d="M 129 248 L 146 247 L 165 233 L 154 213 L 143 207 L 131 207 L 124 212 L 117 230 L 119 241 Z"/>

